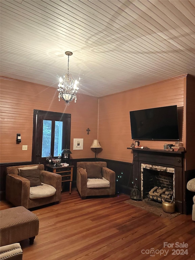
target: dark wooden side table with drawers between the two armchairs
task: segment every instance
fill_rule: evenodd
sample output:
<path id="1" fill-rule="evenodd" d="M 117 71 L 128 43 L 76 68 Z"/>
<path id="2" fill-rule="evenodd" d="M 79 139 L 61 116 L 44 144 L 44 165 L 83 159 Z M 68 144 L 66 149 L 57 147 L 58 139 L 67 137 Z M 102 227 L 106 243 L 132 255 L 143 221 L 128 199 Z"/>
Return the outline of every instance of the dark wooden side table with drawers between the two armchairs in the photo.
<path id="1" fill-rule="evenodd" d="M 71 188 L 72 188 L 72 181 L 73 181 L 73 167 L 74 165 L 69 166 L 54 166 L 47 164 L 46 170 L 50 173 L 57 173 L 62 175 L 62 182 L 69 181 L 70 187 L 69 187 L 69 194 L 71 194 Z"/>

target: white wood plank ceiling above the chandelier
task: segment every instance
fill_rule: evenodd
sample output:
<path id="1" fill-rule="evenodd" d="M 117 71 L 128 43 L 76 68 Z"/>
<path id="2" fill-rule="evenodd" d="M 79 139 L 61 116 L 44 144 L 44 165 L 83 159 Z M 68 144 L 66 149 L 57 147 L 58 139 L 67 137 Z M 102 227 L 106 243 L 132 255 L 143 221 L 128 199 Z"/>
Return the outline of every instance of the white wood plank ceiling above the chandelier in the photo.
<path id="1" fill-rule="evenodd" d="M 1 0 L 1 76 L 102 97 L 195 76 L 194 0 Z"/>

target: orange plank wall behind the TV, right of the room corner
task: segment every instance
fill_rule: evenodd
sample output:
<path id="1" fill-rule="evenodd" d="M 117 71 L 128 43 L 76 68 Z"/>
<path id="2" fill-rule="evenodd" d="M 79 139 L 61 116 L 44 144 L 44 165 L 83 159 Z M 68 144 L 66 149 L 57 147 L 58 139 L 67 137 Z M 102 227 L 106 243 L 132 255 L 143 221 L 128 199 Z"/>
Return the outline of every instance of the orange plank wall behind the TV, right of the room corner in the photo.
<path id="1" fill-rule="evenodd" d="M 133 153 L 127 150 L 131 139 L 129 111 L 168 105 L 179 107 L 179 125 L 183 136 L 183 106 L 186 75 L 138 89 L 110 95 L 99 99 L 98 139 L 102 146 L 99 157 L 123 162 L 132 162 Z M 140 144 L 153 149 L 163 149 L 165 141 L 140 141 Z"/>

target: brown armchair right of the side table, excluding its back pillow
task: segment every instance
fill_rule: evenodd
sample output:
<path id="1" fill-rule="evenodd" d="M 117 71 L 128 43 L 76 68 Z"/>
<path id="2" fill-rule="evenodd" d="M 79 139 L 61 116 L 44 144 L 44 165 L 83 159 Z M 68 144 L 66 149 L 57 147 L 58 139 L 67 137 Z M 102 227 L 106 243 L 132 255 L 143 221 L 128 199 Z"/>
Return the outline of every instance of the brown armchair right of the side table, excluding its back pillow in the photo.
<path id="1" fill-rule="evenodd" d="M 115 172 L 107 168 L 106 162 L 77 162 L 76 166 L 76 187 L 82 199 L 87 196 L 115 195 Z M 88 179 L 86 169 L 89 166 L 100 166 L 103 179 Z"/>

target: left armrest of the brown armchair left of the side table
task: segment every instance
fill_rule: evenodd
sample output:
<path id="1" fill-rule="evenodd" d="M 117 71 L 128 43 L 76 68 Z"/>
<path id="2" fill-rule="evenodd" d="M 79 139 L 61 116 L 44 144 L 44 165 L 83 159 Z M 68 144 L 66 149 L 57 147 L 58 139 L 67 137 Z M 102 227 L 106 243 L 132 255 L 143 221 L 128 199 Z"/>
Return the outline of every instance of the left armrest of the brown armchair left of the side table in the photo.
<path id="1" fill-rule="evenodd" d="M 6 199 L 15 206 L 26 208 L 30 194 L 30 180 L 16 174 L 6 176 Z"/>

